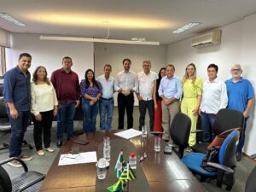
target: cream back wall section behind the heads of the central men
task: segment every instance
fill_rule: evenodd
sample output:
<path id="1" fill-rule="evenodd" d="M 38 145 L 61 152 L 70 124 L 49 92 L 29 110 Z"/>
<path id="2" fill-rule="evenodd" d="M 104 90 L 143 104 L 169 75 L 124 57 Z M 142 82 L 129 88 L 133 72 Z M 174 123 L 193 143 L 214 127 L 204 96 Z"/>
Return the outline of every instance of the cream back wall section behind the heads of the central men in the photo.
<path id="1" fill-rule="evenodd" d="M 124 70 L 122 61 L 131 59 L 131 71 L 143 71 L 143 61 L 151 61 L 151 70 L 158 73 L 160 67 L 166 66 L 166 46 L 131 45 L 131 44 L 95 44 L 95 72 L 96 77 L 103 73 L 106 63 L 112 65 L 112 76 Z M 117 105 L 115 94 L 115 105 Z M 135 99 L 135 105 L 137 99 Z"/>

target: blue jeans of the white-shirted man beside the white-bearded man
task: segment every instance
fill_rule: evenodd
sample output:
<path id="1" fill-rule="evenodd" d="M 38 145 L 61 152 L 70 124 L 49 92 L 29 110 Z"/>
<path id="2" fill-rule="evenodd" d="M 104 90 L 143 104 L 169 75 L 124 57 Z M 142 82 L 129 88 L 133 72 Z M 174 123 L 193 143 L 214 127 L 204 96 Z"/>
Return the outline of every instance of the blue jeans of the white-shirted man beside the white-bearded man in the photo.
<path id="1" fill-rule="evenodd" d="M 203 113 L 201 112 L 201 126 L 203 132 L 203 140 L 206 143 L 212 142 L 214 138 L 213 133 L 213 124 L 215 121 L 216 115 L 213 113 Z"/>

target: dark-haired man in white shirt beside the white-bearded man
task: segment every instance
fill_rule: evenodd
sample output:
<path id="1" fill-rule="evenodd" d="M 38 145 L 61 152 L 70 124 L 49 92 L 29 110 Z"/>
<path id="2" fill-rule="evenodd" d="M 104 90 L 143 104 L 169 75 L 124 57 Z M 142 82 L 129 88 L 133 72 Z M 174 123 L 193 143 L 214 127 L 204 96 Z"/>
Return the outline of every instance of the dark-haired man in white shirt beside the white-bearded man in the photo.
<path id="1" fill-rule="evenodd" d="M 217 78 L 218 66 L 210 64 L 207 67 L 207 73 L 209 79 L 204 82 L 200 114 L 204 142 L 212 142 L 216 114 L 219 109 L 226 108 L 228 96 L 226 84 Z"/>

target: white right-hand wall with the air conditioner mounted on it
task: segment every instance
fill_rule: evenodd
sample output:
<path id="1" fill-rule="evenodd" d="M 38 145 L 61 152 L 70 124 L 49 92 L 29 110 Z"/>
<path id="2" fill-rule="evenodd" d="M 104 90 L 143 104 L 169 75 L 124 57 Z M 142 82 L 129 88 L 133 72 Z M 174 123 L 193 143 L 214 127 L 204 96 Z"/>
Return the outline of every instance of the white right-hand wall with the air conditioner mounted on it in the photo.
<path id="1" fill-rule="evenodd" d="M 207 66 L 215 63 L 219 67 L 218 77 L 230 79 L 230 67 L 240 63 L 243 67 L 243 77 L 249 79 L 256 85 L 256 76 L 253 71 L 256 61 L 256 15 L 247 16 L 244 20 L 237 21 L 221 27 L 222 42 L 206 48 L 192 48 L 191 38 L 170 44 L 167 48 L 167 62 L 173 63 L 178 76 L 183 77 L 185 67 L 194 62 L 197 74 L 202 79 L 207 79 Z M 244 146 L 246 154 L 256 154 L 256 119 L 254 119 L 255 108 L 251 110 L 251 118 L 248 120 L 247 137 Z"/>

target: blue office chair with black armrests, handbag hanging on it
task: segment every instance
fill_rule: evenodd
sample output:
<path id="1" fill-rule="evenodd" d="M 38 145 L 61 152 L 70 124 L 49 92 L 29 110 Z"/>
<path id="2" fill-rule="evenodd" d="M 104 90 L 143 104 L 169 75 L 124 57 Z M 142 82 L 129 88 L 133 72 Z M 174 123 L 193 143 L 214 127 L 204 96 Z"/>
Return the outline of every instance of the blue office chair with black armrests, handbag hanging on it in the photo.
<path id="1" fill-rule="evenodd" d="M 215 167 L 216 172 L 208 172 L 201 167 L 201 162 L 206 154 L 190 153 L 183 157 L 183 163 L 189 170 L 201 176 L 201 181 L 205 181 L 207 177 L 217 178 L 217 186 L 221 188 L 224 183 L 230 190 L 234 184 L 234 172 L 236 168 L 236 147 L 239 139 L 239 131 L 232 131 L 224 140 L 219 149 L 219 163 L 208 162 L 208 166 Z"/>

